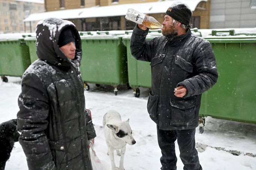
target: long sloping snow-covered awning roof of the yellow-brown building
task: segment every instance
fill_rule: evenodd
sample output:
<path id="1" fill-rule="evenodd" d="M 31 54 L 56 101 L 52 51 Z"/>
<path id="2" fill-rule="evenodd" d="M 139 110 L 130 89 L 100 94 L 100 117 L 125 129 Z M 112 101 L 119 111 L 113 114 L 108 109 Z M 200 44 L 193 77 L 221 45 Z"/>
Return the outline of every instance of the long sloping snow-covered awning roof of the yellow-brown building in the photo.
<path id="1" fill-rule="evenodd" d="M 179 0 L 186 3 L 192 11 L 196 9 L 197 4 L 207 0 Z M 23 21 L 39 21 L 41 19 L 56 17 L 61 19 L 75 18 L 95 18 L 107 16 L 124 16 L 129 8 L 133 8 L 142 13 L 165 13 L 169 6 L 177 2 L 176 0 L 165 0 L 148 3 L 130 3 L 116 4 L 111 6 L 93 6 L 79 9 L 66 9 L 51 12 L 32 13 Z"/>

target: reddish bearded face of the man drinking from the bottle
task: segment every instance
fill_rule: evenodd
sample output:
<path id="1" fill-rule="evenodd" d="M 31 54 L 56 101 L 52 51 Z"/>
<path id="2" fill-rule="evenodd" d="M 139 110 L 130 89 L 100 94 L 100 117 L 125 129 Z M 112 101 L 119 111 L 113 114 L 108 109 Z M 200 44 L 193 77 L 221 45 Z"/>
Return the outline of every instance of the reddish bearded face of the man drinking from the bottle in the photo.
<path id="1" fill-rule="evenodd" d="M 162 29 L 162 34 L 163 36 L 175 36 L 177 34 L 177 23 L 173 23 L 173 19 L 171 16 L 169 15 L 165 15 L 164 16 L 164 22 L 162 23 L 162 25 L 164 25 L 163 29 Z"/>

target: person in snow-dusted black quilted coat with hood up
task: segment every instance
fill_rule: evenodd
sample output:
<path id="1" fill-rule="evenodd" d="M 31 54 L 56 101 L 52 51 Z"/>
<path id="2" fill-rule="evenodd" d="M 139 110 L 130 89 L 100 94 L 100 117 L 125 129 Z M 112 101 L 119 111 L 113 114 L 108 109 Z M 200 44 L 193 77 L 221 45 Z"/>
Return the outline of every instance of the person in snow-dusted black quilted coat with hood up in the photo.
<path id="1" fill-rule="evenodd" d="M 92 170 L 87 142 L 96 134 L 93 124 L 86 127 L 75 25 L 57 18 L 39 21 L 36 54 L 39 59 L 22 77 L 17 114 L 29 170 Z"/>

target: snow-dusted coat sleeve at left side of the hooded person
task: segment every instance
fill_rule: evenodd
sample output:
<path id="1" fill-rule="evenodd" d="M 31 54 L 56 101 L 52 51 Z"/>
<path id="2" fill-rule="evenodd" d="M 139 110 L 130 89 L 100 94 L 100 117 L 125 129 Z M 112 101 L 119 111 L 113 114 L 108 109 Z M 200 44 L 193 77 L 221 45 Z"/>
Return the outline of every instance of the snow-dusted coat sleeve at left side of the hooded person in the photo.
<path id="1" fill-rule="evenodd" d="M 27 157 L 29 170 L 55 170 L 45 134 L 49 113 L 47 90 L 33 72 L 24 74 L 21 85 L 17 130 L 21 132 L 19 142 Z"/>

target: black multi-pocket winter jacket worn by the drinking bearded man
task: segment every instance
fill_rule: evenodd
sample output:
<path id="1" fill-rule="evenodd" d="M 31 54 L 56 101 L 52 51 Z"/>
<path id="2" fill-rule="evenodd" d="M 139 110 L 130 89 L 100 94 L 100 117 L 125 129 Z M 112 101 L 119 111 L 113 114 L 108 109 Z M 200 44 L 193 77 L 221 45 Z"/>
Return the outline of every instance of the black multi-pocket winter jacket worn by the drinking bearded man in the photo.
<path id="1" fill-rule="evenodd" d="M 201 95 L 218 78 L 211 45 L 191 34 L 168 39 L 155 37 L 146 41 L 148 30 L 137 25 L 131 36 L 131 53 L 137 60 L 151 62 L 152 89 L 148 112 L 162 130 L 185 130 L 198 126 Z M 174 88 L 184 85 L 187 94 L 174 95 Z"/>

